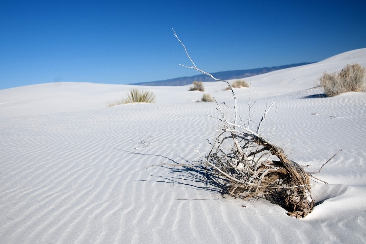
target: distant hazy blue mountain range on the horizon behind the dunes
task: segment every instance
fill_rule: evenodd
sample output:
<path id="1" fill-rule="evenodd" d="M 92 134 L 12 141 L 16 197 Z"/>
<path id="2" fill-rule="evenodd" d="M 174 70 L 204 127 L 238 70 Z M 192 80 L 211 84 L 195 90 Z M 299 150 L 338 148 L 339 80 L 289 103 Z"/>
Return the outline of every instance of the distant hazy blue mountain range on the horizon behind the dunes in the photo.
<path id="1" fill-rule="evenodd" d="M 312 63 L 298 63 L 298 64 L 288 64 L 288 65 L 281 65 L 281 66 L 275 66 L 275 67 L 264 67 L 264 68 L 255 68 L 251 70 L 231 70 L 231 71 L 220 71 L 220 72 L 214 72 L 211 73 L 215 78 L 221 79 L 221 80 L 231 80 L 231 79 L 240 79 L 245 78 L 253 75 L 260 75 L 265 74 L 271 71 L 275 70 L 282 70 L 285 68 L 291 68 L 296 66 L 301 66 L 305 64 L 313 64 Z M 157 80 L 152 82 L 141 82 L 141 83 L 134 83 L 130 85 L 141 85 L 141 86 L 184 86 L 191 84 L 194 81 L 202 81 L 202 82 L 211 82 L 215 81 L 208 75 L 200 74 L 200 75 L 194 75 L 194 76 L 186 76 L 186 77 L 179 77 L 174 79 L 168 79 L 168 80 Z"/>

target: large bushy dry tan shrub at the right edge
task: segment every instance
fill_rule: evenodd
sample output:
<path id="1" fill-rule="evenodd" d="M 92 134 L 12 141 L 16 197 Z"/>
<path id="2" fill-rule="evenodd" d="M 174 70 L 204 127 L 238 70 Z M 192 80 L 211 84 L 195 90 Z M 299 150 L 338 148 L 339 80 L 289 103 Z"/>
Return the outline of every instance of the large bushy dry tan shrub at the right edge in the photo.
<path id="1" fill-rule="evenodd" d="M 348 91 L 365 91 L 366 68 L 360 64 L 347 64 L 340 72 L 327 73 L 321 76 L 320 85 L 328 97 Z"/>

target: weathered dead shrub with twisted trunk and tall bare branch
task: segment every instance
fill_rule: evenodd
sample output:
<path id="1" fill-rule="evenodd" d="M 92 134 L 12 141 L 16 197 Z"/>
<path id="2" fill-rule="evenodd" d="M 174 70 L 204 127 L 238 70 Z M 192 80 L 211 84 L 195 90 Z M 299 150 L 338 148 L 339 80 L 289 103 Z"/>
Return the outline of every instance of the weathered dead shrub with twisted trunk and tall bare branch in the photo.
<path id="1" fill-rule="evenodd" d="M 265 197 L 284 207 L 288 215 L 305 217 L 314 206 L 310 195 L 309 174 L 296 162 L 288 159 L 280 147 L 260 134 L 265 116 L 273 104 L 266 108 L 255 130 L 249 128 L 250 112 L 247 125 L 237 124 L 237 102 L 230 83 L 198 69 L 175 31 L 174 35 L 193 64 L 190 67 L 180 65 L 193 68 L 214 80 L 226 82 L 234 98 L 234 119 L 228 120 L 221 111 L 220 104 L 216 102 L 217 110 L 221 113 L 221 118 L 217 119 L 223 122 L 220 134 L 214 143 L 210 143 L 212 149 L 207 155 L 199 154 L 201 160 L 198 164 L 184 167 L 203 169 L 206 179 L 223 187 L 223 194 L 243 199 Z M 249 107 L 251 106 L 253 104 L 249 102 Z"/>

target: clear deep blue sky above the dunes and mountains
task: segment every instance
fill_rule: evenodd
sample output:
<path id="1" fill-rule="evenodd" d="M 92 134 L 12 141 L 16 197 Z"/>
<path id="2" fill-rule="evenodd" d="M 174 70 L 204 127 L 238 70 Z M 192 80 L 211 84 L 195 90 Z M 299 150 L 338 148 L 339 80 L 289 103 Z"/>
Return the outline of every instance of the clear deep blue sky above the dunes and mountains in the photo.
<path id="1" fill-rule="evenodd" d="M 366 47 L 366 1 L 0 0 L 0 89 L 127 84 L 320 61 Z"/>

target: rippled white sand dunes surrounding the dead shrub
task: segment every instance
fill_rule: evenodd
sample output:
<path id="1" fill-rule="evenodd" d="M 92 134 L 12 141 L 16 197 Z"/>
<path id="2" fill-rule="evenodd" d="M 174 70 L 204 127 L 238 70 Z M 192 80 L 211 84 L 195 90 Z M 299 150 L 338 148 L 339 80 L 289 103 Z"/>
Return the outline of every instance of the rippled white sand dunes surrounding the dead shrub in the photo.
<path id="1" fill-rule="evenodd" d="M 267 134 L 289 158 L 318 170 L 317 206 L 304 219 L 266 200 L 222 198 L 181 168 L 216 136 L 216 104 L 202 92 L 144 87 L 156 104 L 108 108 L 132 85 L 49 83 L 0 90 L 1 243 L 365 243 L 366 93 L 322 97 L 315 82 L 346 64 L 366 66 L 366 49 L 253 76 L 253 120 L 266 103 Z M 204 83 L 232 104 L 225 83 Z M 249 89 L 235 89 L 247 117 Z M 141 140 L 151 143 L 142 147 Z M 136 149 L 135 149 L 136 148 Z M 242 207 L 246 206 L 246 207 Z"/>

